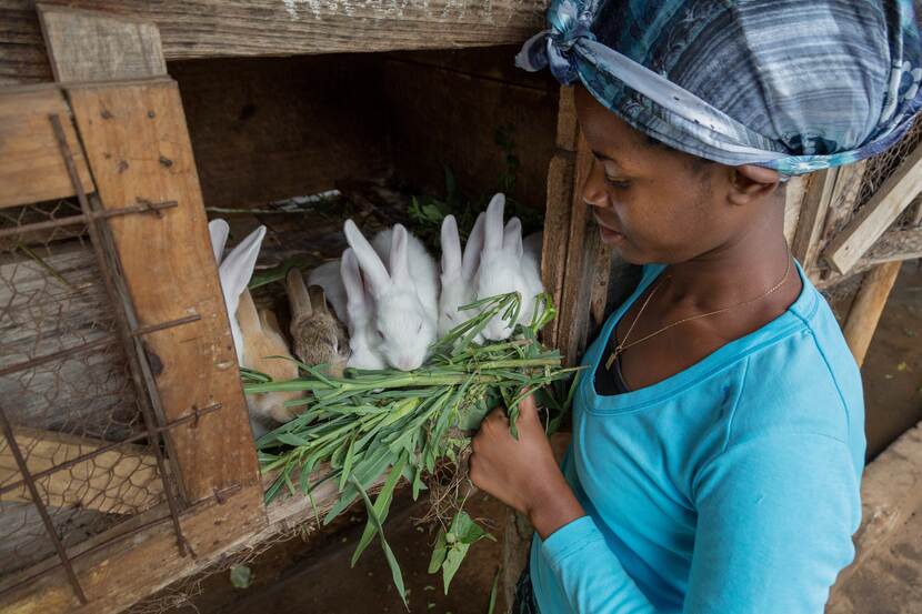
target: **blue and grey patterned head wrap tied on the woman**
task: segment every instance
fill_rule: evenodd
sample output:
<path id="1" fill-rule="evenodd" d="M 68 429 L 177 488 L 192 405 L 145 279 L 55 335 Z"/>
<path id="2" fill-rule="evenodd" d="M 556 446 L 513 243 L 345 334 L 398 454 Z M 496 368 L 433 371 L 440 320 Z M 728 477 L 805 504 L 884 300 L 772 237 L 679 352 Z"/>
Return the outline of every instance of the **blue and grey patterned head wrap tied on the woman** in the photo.
<path id="1" fill-rule="evenodd" d="M 911 0 L 552 0 L 515 58 L 665 144 L 783 175 L 896 142 L 922 107 Z"/>

